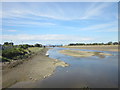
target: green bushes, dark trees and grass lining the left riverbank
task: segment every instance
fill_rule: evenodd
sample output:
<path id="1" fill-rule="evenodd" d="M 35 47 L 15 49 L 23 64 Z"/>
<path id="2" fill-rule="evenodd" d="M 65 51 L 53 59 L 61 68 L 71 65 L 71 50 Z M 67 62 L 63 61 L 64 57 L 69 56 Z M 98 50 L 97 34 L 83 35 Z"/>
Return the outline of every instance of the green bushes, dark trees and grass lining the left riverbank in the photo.
<path id="1" fill-rule="evenodd" d="M 35 45 L 13 45 L 13 43 L 7 43 L 5 42 L 1 46 L 1 52 L 2 56 L 0 56 L 0 60 L 2 62 L 11 62 L 13 60 L 18 60 L 18 59 L 26 59 L 28 58 L 31 54 L 34 54 L 36 50 L 39 50 L 41 48 L 41 44 L 35 44 Z M 34 50 L 34 49 L 35 50 Z M 36 49 L 37 48 L 37 49 Z"/>

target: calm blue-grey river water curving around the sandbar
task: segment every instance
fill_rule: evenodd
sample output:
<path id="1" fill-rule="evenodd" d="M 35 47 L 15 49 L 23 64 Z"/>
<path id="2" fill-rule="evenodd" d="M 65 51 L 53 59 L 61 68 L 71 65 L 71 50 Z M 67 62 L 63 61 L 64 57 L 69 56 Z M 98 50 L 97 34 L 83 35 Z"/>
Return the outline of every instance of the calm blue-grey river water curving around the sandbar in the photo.
<path id="1" fill-rule="evenodd" d="M 50 49 L 49 57 L 70 64 L 68 67 L 57 67 L 55 73 L 37 83 L 38 88 L 117 88 L 118 87 L 118 52 L 96 51 L 113 54 L 100 58 L 91 56 L 78 58 L 60 54 L 59 50 Z M 81 49 L 72 49 L 81 50 Z"/>

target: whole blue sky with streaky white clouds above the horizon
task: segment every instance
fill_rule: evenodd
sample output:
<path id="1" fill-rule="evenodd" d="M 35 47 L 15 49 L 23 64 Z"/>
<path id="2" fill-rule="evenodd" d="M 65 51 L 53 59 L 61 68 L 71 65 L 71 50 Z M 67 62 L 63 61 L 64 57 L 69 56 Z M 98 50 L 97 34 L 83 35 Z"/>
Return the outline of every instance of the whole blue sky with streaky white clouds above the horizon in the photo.
<path id="1" fill-rule="evenodd" d="M 4 2 L 3 42 L 69 44 L 118 40 L 117 2 Z"/>

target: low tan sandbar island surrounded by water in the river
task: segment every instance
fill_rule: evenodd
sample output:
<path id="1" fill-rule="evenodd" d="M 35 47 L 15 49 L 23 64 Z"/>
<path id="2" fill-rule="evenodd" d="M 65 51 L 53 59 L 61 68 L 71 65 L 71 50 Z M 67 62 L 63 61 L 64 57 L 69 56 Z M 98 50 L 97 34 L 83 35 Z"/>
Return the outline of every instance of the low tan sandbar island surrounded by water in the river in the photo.
<path id="1" fill-rule="evenodd" d="M 77 51 L 77 50 L 61 50 L 59 51 L 62 54 L 74 56 L 74 57 L 90 57 L 98 56 L 104 58 L 105 56 L 111 56 L 112 54 L 102 53 L 102 52 L 88 52 L 88 51 Z"/>

